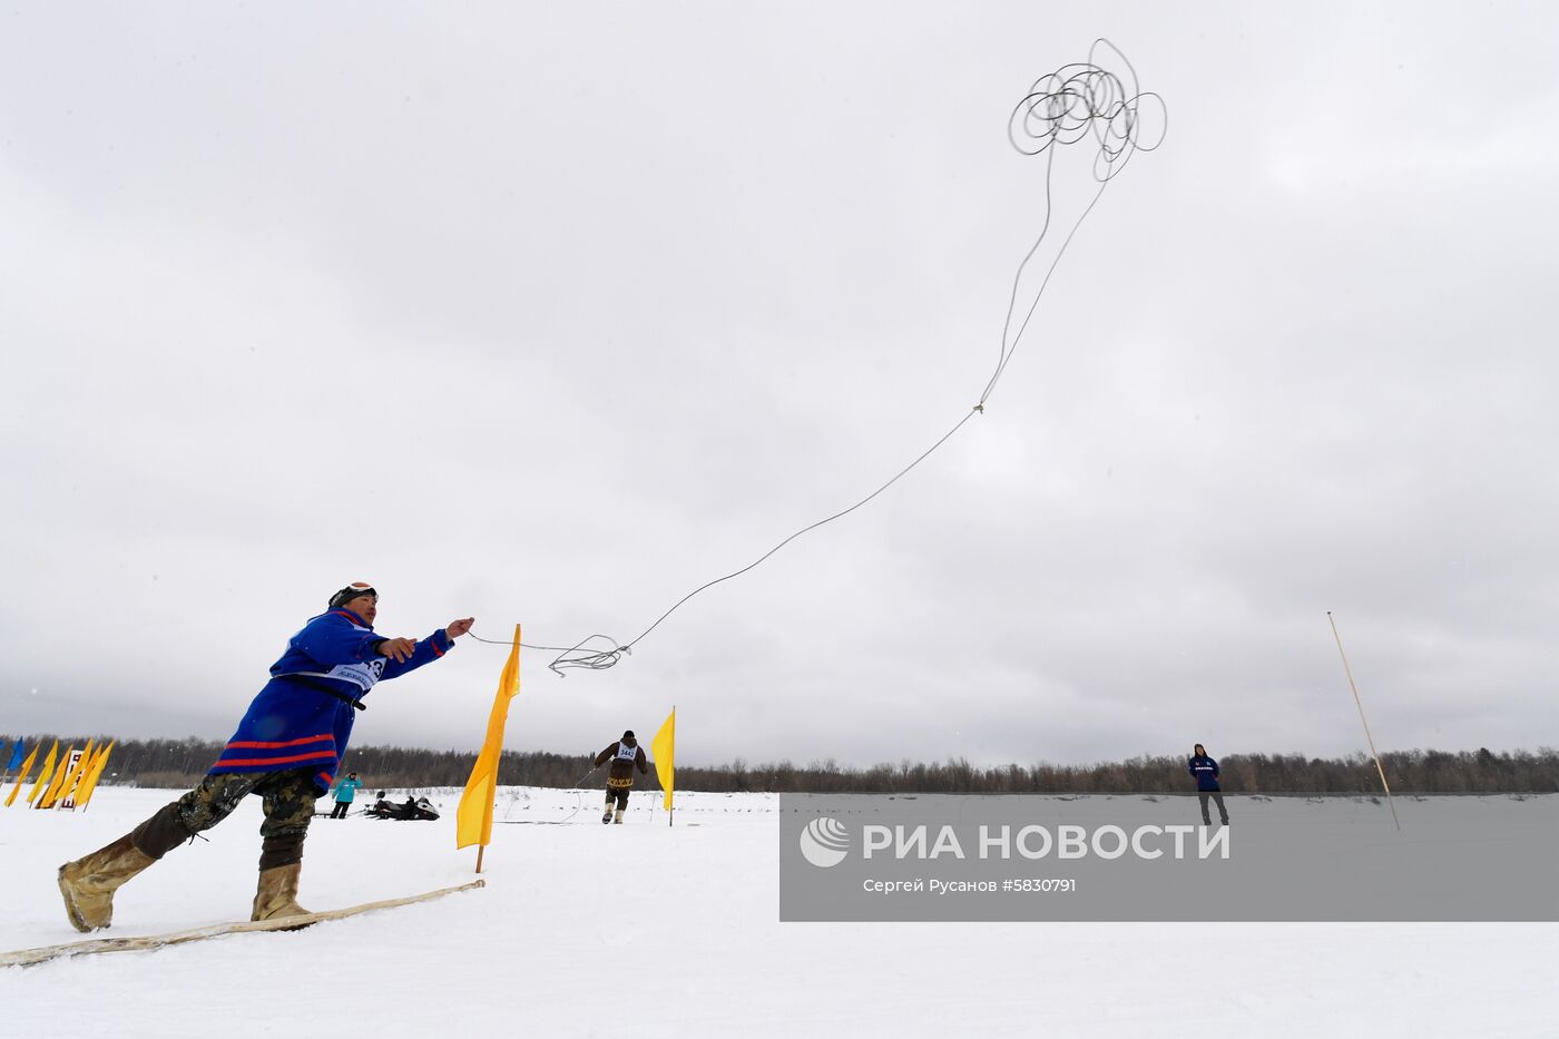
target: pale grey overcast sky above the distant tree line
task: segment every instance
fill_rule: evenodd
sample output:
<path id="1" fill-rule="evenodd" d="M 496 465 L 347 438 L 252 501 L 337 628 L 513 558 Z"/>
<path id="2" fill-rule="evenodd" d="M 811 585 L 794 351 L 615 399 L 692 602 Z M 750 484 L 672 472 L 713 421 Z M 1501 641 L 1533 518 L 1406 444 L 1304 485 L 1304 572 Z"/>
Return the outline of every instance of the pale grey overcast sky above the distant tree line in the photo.
<path id="1" fill-rule="evenodd" d="M 223 739 L 377 627 L 625 643 L 979 399 L 1108 37 L 1168 106 L 984 415 L 508 746 L 678 758 L 1559 744 L 1547 5 L 0 12 L 0 732 Z M 1118 69 L 1121 75 L 1124 69 Z M 1091 153 L 1055 156 L 1059 215 Z M 474 750 L 504 649 L 354 743 Z"/>

